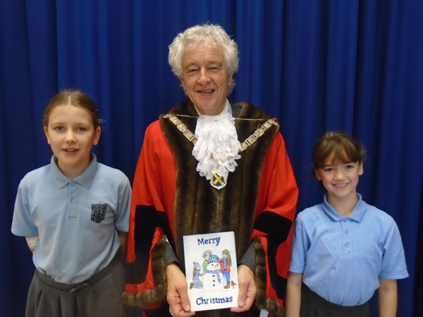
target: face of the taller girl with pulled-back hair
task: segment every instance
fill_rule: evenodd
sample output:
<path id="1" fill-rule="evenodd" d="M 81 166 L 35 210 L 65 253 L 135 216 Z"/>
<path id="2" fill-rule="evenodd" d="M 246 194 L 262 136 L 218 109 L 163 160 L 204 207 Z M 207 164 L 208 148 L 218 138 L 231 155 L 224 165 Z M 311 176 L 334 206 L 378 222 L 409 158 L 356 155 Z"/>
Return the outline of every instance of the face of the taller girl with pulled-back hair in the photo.
<path id="1" fill-rule="evenodd" d="M 70 104 L 53 108 L 44 127 L 60 170 L 71 179 L 90 164 L 91 148 L 99 142 L 101 132 L 101 128 L 94 128 L 89 111 Z"/>

